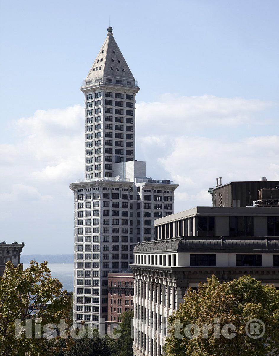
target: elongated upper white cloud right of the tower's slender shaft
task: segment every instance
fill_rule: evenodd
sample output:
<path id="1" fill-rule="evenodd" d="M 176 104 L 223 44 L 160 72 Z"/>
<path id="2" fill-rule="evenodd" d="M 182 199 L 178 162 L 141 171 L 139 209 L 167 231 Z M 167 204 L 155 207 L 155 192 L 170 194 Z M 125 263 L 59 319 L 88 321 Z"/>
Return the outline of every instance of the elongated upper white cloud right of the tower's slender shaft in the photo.
<path id="1" fill-rule="evenodd" d="M 178 96 L 164 94 L 159 102 L 136 105 L 140 132 L 159 135 L 208 127 L 235 127 L 252 119 L 252 114 L 273 106 L 273 103 L 242 98 L 219 98 L 213 95 Z M 218 125 L 218 126 L 217 126 Z"/>

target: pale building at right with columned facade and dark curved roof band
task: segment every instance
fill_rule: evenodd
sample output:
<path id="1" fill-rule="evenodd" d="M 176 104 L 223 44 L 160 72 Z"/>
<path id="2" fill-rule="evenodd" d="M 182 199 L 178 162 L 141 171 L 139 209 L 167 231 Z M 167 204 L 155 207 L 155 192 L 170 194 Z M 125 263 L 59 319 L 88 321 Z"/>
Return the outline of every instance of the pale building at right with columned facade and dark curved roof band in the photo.
<path id="1" fill-rule="evenodd" d="M 134 249 L 135 356 L 160 356 L 165 324 L 189 287 L 250 274 L 279 289 L 279 208 L 196 207 L 155 220 Z"/>

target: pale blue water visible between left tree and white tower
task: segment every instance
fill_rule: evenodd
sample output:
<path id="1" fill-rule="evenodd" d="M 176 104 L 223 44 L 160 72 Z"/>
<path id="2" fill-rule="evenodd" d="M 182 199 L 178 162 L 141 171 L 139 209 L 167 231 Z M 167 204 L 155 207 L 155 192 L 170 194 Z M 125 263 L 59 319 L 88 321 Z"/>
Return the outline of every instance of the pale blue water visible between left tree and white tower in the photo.
<path id="1" fill-rule="evenodd" d="M 23 263 L 23 269 L 28 268 L 28 263 Z M 49 263 L 51 277 L 59 279 L 63 284 L 62 290 L 73 291 L 73 263 Z"/>

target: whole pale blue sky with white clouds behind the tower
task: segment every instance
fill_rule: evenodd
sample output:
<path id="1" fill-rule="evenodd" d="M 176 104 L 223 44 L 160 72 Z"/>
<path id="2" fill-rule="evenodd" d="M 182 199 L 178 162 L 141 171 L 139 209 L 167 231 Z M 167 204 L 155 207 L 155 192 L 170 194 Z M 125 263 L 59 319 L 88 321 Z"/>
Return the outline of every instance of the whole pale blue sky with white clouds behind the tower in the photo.
<path id="1" fill-rule="evenodd" d="M 179 184 L 175 212 L 212 205 L 217 177 L 279 180 L 278 15 L 277 0 L 1 1 L 1 241 L 73 251 L 80 86 L 109 16 L 140 87 L 136 159 Z"/>

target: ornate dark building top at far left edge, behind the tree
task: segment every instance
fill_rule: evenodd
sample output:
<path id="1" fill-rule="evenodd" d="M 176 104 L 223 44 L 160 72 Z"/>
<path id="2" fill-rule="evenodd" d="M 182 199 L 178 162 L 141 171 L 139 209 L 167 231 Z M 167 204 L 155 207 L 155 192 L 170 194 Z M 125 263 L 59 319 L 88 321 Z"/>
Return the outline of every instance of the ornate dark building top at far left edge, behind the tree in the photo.
<path id="1" fill-rule="evenodd" d="M 13 242 L 7 244 L 5 241 L 0 243 L 0 276 L 3 276 L 6 262 L 12 262 L 13 266 L 17 266 L 20 263 L 20 254 L 24 243 L 18 244 Z"/>

